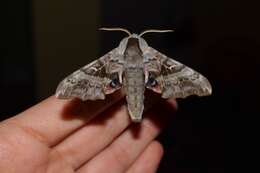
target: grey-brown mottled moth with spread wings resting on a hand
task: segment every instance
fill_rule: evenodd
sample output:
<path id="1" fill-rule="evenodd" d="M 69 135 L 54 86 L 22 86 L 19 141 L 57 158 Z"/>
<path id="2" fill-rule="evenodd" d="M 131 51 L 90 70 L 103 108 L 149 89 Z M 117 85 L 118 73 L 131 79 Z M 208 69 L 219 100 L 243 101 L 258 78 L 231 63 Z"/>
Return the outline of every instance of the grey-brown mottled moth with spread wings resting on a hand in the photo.
<path id="1" fill-rule="evenodd" d="M 105 99 L 105 95 L 122 88 L 131 120 L 140 122 L 145 88 L 161 93 L 165 99 L 211 94 L 211 85 L 204 76 L 148 46 L 142 38 L 146 33 L 172 30 L 146 30 L 139 35 L 123 28 L 100 30 L 123 31 L 128 36 L 117 48 L 61 81 L 57 98 Z"/>

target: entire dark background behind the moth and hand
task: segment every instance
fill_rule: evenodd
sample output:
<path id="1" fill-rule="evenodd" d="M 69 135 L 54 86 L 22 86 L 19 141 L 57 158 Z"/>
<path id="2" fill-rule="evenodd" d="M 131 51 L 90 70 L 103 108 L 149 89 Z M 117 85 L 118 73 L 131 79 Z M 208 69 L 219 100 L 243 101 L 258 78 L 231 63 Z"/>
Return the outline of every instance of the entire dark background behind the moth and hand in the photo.
<path id="1" fill-rule="evenodd" d="M 136 33 L 174 28 L 174 33 L 144 37 L 205 75 L 213 95 L 179 100 L 174 120 L 159 138 L 165 156 L 158 172 L 221 173 L 234 156 L 241 157 L 238 139 L 245 140 L 247 120 L 259 113 L 257 5 L 238 0 L 9 2 L 1 25 L 1 119 L 53 94 L 62 77 L 125 36 L 97 32 L 100 26 Z"/>

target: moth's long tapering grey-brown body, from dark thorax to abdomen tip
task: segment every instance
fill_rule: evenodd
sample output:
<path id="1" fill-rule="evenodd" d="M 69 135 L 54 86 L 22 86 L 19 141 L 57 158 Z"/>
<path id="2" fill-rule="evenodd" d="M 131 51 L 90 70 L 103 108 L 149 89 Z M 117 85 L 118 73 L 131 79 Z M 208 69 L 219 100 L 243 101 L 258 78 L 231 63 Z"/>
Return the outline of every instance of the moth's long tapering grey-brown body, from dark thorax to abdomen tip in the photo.
<path id="1" fill-rule="evenodd" d="M 133 121 L 140 121 L 144 110 L 144 62 L 137 38 L 128 40 L 124 53 L 123 90 L 126 93 L 129 114 Z"/>

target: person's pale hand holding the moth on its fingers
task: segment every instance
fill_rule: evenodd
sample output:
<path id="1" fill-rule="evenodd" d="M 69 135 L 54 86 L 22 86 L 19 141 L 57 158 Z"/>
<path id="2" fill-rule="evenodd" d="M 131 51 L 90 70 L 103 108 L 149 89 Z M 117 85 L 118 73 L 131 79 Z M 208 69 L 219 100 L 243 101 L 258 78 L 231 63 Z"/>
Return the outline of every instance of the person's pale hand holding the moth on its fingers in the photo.
<path id="1" fill-rule="evenodd" d="M 160 101 L 141 123 L 131 123 L 121 98 L 121 93 L 95 102 L 50 97 L 1 122 L 1 172 L 156 172 L 163 148 L 155 138 L 176 102 Z"/>

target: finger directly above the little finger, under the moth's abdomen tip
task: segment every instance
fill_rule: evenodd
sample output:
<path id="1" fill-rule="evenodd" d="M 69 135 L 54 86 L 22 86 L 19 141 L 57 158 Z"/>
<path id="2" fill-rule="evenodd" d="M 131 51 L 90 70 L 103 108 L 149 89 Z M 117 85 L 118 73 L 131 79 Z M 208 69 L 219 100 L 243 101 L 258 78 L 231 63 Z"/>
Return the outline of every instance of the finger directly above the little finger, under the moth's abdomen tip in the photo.
<path id="1" fill-rule="evenodd" d="M 112 144 L 83 165 L 78 171 L 80 173 L 125 172 L 147 145 L 159 134 L 169 116 L 172 116 L 172 107 L 165 104 L 158 107 L 156 110 L 149 111 L 140 124 L 133 124 L 129 127 Z M 162 111 L 165 114 L 162 114 Z"/>

